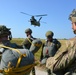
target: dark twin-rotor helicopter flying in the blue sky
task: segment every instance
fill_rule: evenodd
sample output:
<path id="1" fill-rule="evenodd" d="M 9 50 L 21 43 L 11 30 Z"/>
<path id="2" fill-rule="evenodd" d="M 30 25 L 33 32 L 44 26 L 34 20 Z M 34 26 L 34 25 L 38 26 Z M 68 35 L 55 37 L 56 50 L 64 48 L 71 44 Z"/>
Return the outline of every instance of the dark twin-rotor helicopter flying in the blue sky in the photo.
<path id="1" fill-rule="evenodd" d="M 30 14 L 27 14 L 27 13 L 24 13 L 24 12 L 21 12 L 22 14 L 25 14 L 25 15 L 28 15 L 28 16 L 31 16 L 31 19 L 30 19 L 30 23 L 31 25 L 34 25 L 34 26 L 40 26 L 40 20 L 42 19 L 42 16 L 47 16 L 47 14 L 43 14 L 43 15 L 30 15 Z M 36 20 L 35 17 L 40 17 L 39 20 Z M 43 22 L 45 23 L 45 22 Z"/>

